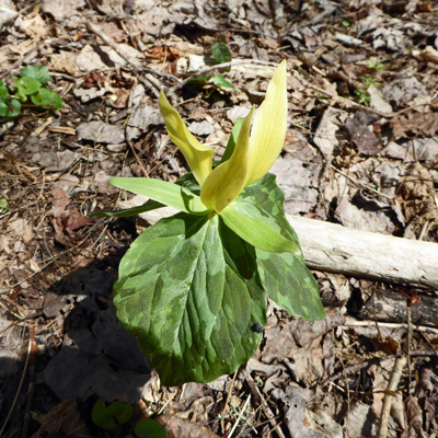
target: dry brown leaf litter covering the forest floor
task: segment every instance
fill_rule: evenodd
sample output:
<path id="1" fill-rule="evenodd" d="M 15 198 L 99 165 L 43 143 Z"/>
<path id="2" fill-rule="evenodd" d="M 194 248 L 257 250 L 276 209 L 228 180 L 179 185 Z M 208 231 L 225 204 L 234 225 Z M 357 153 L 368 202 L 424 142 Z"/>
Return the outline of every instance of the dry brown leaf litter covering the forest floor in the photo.
<path id="1" fill-rule="evenodd" d="M 410 354 L 390 436 L 434 436 L 437 291 L 315 273 L 324 322 L 270 302 L 262 346 L 234 379 L 165 388 L 112 304 L 118 261 L 147 223 L 88 215 L 130 205 L 113 176 L 186 172 L 160 89 L 194 134 L 224 146 L 230 120 L 260 102 L 285 56 L 288 136 L 273 171 L 287 212 L 437 242 L 436 5 L 155 3 L 0 2 L 2 80 L 44 64 L 66 102 L 0 125 L 0 430 L 110 436 L 90 424 L 102 396 L 161 418 L 169 436 L 376 436 L 395 355 Z M 221 35 L 231 69 L 205 72 Z M 210 73 L 238 91 L 181 87 Z"/>

